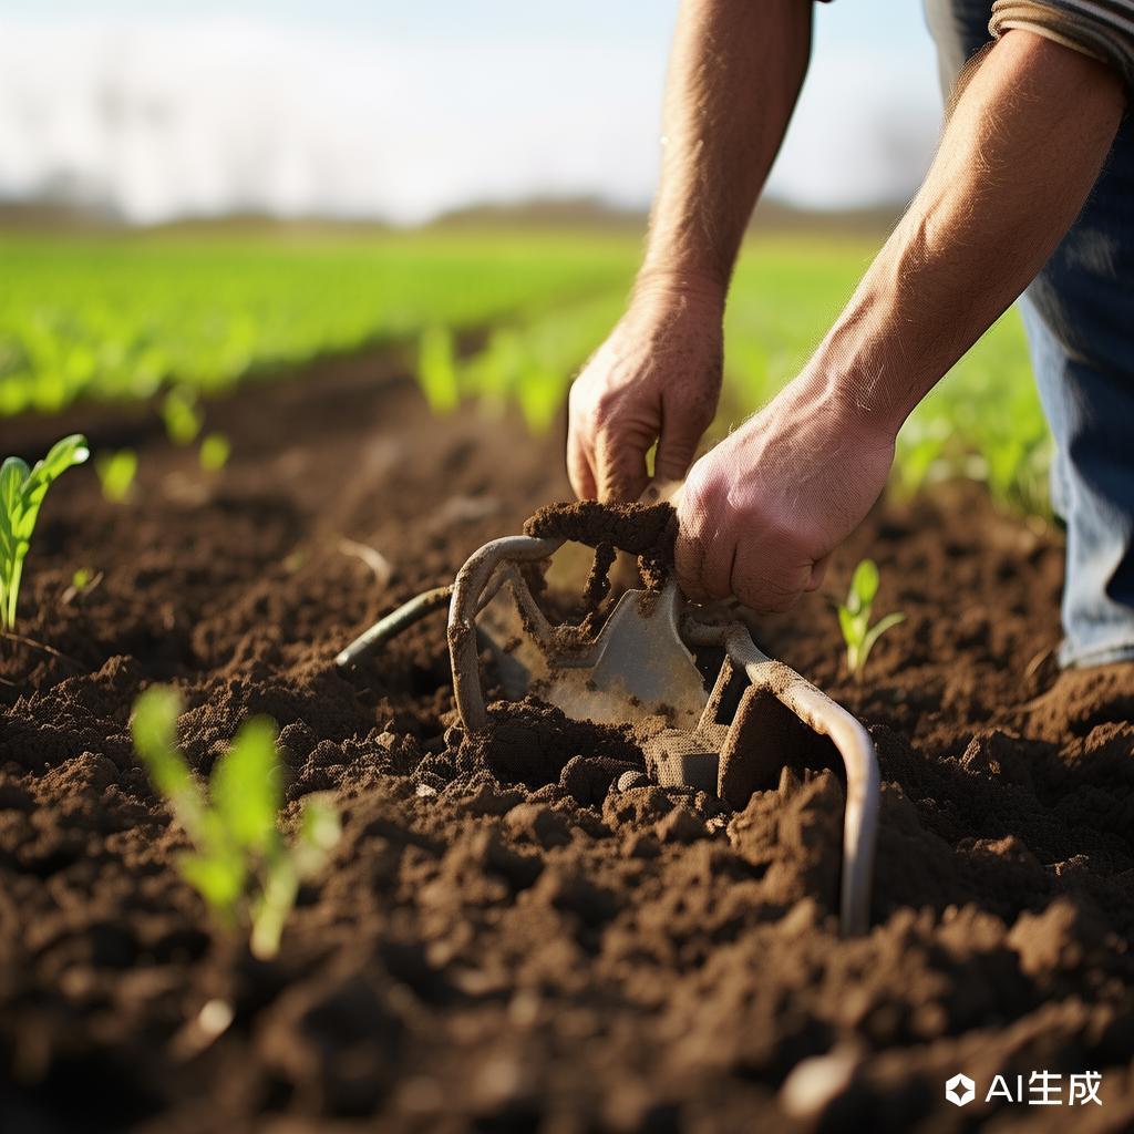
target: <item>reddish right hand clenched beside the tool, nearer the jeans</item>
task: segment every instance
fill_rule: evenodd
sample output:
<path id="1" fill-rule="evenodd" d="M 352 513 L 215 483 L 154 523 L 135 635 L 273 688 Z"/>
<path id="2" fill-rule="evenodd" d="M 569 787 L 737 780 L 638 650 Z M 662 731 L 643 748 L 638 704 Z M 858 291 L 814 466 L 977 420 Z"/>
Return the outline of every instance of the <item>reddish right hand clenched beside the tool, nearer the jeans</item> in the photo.
<path id="1" fill-rule="evenodd" d="M 693 466 L 676 549 L 688 598 L 787 610 L 878 499 L 894 433 L 824 387 L 801 375 Z"/>

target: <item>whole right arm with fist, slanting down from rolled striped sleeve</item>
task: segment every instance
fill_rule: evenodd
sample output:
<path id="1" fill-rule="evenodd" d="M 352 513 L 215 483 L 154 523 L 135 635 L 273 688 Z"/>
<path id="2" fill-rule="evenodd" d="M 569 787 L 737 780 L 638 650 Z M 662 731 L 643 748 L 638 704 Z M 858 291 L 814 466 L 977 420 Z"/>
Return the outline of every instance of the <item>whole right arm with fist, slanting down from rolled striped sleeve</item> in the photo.
<path id="1" fill-rule="evenodd" d="M 678 573 L 693 598 L 781 610 L 886 482 L 898 428 L 1016 298 L 1077 215 L 1122 84 L 1030 32 L 960 95 L 924 185 L 803 373 L 693 467 Z"/>

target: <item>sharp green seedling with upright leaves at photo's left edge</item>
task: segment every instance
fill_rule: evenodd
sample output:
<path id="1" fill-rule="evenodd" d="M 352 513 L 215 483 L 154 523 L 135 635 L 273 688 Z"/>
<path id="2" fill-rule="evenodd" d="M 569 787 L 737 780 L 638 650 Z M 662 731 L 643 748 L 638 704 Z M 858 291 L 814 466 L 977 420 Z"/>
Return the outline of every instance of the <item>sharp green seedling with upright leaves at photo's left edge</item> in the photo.
<path id="1" fill-rule="evenodd" d="M 16 625 L 16 602 L 24 573 L 24 559 L 40 505 L 52 483 L 71 465 L 81 465 L 91 455 L 86 438 L 73 433 L 57 441 L 32 468 L 19 457 L 0 465 L 0 626 Z"/>

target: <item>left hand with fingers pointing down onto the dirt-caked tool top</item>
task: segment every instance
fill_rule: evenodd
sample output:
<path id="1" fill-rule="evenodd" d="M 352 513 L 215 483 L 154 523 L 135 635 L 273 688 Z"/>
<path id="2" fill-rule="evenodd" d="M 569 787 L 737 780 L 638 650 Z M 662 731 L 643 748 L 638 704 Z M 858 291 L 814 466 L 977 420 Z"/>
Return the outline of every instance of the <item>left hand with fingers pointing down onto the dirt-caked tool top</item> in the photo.
<path id="1" fill-rule="evenodd" d="M 654 475 L 685 475 L 720 396 L 723 306 L 719 289 L 640 285 L 570 388 L 567 473 L 577 497 L 636 500 L 654 441 Z"/>

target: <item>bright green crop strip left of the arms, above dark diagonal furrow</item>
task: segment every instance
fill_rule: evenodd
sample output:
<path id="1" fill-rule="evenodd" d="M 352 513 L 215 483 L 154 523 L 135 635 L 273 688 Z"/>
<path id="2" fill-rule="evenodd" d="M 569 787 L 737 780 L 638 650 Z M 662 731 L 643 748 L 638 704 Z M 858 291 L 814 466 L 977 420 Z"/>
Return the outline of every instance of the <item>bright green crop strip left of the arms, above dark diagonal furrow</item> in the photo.
<path id="1" fill-rule="evenodd" d="M 0 416 L 204 393 L 621 286 L 632 245 L 531 237 L 0 242 Z"/>

